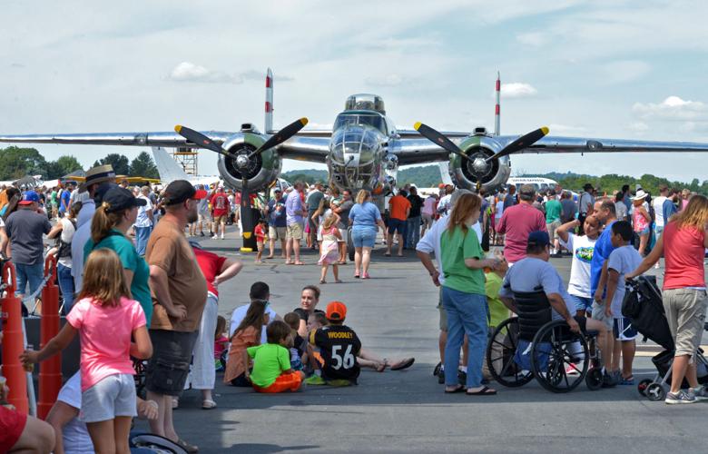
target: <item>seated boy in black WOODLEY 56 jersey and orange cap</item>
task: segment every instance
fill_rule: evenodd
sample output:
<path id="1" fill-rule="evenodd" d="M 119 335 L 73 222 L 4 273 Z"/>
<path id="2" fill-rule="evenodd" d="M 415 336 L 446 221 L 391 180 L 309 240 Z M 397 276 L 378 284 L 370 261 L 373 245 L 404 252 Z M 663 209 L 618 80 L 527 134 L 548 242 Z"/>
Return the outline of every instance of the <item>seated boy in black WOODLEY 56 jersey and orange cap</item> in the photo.
<path id="1" fill-rule="evenodd" d="M 357 356 L 361 341 L 356 332 L 343 324 L 347 306 L 343 302 L 332 301 L 327 305 L 325 316 L 329 325 L 310 331 L 310 343 L 320 348 L 324 360 L 321 377 L 314 375 L 308 383 L 334 386 L 357 384 L 360 371 Z"/>

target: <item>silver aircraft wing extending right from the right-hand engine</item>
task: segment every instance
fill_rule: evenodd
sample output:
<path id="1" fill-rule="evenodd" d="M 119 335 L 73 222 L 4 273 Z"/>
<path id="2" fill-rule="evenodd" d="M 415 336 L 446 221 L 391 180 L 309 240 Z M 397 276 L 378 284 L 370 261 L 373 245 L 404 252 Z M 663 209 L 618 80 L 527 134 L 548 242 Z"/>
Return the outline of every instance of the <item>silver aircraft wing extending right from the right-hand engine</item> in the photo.
<path id="1" fill-rule="evenodd" d="M 501 135 L 495 139 L 506 146 L 517 135 Z M 546 135 L 543 139 L 516 153 L 682 153 L 708 152 L 708 143 L 637 141 L 632 139 L 592 139 Z M 516 154 L 515 153 L 515 154 Z"/>

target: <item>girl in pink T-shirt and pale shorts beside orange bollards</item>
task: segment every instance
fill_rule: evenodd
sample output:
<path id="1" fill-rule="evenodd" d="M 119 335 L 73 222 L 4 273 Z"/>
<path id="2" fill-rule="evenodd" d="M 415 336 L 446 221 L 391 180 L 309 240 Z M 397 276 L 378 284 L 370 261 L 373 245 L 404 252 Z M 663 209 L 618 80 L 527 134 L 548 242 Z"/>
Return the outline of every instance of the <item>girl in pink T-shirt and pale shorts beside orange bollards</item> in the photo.
<path id="1" fill-rule="evenodd" d="M 67 323 L 40 351 L 25 350 L 25 365 L 64 350 L 78 331 L 81 339 L 81 412 L 96 452 L 129 452 L 128 436 L 135 408 L 131 356 L 147 360 L 152 342 L 145 313 L 130 299 L 123 264 L 101 248 L 89 255 L 84 287 L 66 317 Z M 135 340 L 134 342 L 131 339 Z"/>

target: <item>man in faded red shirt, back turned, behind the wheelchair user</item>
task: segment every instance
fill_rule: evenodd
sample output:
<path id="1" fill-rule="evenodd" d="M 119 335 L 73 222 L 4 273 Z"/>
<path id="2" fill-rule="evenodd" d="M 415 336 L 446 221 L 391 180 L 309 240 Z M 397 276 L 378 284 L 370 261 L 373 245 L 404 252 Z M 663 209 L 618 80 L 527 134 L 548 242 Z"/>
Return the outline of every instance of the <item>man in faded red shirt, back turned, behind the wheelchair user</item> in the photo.
<path id="1" fill-rule="evenodd" d="M 530 232 L 547 232 L 544 213 L 536 210 L 536 189 L 531 184 L 524 184 L 518 190 L 519 202 L 504 209 L 497 233 L 506 234 L 504 258 L 511 265 L 526 258 L 526 244 Z"/>

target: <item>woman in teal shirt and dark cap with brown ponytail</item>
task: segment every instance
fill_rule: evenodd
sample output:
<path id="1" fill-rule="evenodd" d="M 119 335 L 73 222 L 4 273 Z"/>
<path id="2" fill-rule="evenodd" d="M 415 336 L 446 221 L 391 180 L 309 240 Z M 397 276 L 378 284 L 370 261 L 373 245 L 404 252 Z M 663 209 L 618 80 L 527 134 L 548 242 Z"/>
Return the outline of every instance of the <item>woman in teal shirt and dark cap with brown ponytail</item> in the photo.
<path id="1" fill-rule="evenodd" d="M 91 238 L 84 246 L 84 262 L 97 248 L 110 249 L 118 254 L 123 263 L 123 275 L 131 289 L 133 300 L 140 302 L 145 312 L 147 326 L 152 319 L 152 297 L 148 278 L 150 269 L 145 259 L 138 255 L 133 242 L 126 236 L 138 216 L 138 207 L 143 199 L 136 199 L 133 192 L 120 186 L 109 189 L 103 195 L 103 203 L 96 208 L 91 222 Z"/>

